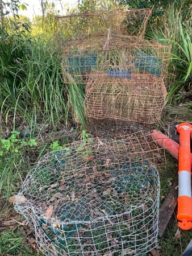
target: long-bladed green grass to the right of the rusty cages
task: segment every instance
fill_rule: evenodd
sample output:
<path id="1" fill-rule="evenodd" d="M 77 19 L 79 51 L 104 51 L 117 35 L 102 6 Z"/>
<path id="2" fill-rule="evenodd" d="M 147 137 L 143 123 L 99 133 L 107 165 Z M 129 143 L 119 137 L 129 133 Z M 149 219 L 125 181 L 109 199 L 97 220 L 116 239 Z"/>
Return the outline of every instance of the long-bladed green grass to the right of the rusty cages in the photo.
<path id="1" fill-rule="evenodd" d="M 168 81 L 168 97 L 166 104 L 181 101 L 192 96 L 190 89 L 192 80 L 192 6 L 182 10 L 170 3 L 164 16 L 155 27 L 147 33 L 148 39 L 157 40 L 172 47 Z M 184 97 L 183 97 L 184 96 Z"/>

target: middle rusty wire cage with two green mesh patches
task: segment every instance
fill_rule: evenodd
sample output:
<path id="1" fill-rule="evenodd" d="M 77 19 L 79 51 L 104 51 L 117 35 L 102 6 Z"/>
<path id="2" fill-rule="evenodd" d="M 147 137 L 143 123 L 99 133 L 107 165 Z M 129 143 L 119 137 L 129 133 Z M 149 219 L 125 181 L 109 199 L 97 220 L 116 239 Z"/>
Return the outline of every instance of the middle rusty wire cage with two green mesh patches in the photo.
<path id="1" fill-rule="evenodd" d="M 168 46 L 136 36 L 114 36 L 108 31 L 105 36 L 86 36 L 76 43 L 66 42 L 62 67 L 64 76 L 70 73 L 83 79 L 97 71 L 120 78 L 130 78 L 132 73 L 163 76 L 169 57 Z"/>

